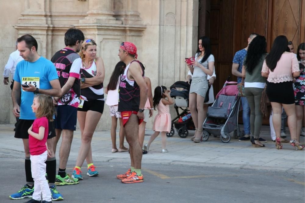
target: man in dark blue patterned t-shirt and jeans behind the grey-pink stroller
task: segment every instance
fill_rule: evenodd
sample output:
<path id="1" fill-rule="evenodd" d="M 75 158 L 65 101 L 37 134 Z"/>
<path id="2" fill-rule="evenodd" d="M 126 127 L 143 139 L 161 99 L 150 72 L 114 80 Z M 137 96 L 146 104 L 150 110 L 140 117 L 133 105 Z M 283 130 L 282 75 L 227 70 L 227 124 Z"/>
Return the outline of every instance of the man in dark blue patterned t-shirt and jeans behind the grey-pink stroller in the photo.
<path id="1" fill-rule="evenodd" d="M 242 63 L 244 58 L 247 55 L 247 50 L 250 42 L 256 37 L 258 34 L 252 33 L 248 38 L 248 45 L 246 48 L 239 50 L 235 53 L 232 64 L 232 75 L 237 76 L 237 82 L 240 83 L 242 81 Z M 241 97 L 242 100 L 242 122 L 244 124 L 244 137 L 241 137 L 238 141 L 246 141 L 250 140 L 250 107 L 246 97 Z M 261 142 L 265 142 L 263 138 L 260 137 Z"/>

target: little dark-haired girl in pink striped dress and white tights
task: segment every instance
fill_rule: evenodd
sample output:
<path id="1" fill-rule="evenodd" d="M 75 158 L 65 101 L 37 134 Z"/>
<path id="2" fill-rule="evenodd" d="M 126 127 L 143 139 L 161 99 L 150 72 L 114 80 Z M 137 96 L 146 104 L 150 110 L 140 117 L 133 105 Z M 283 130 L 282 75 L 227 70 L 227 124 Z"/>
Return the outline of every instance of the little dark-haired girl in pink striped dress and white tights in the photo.
<path id="1" fill-rule="evenodd" d="M 166 149 L 166 133 L 170 132 L 171 118 L 170 107 L 173 104 L 173 99 L 169 95 L 170 91 L 164 86 L 158 86 L 155 88 L 153 96 L 153 107 L 158 109 L 158 114 L 155 117 L 152 130 L 155 132 L 150 136 L 147 144 L 144 145 L 144 150 L 148 151 L 149 146 L 158 137 L 161 132 L 162 136 L 162 151 L 161 153 L 167 153 Z M 166 99 L 167 98 L 167 99 Z"/>

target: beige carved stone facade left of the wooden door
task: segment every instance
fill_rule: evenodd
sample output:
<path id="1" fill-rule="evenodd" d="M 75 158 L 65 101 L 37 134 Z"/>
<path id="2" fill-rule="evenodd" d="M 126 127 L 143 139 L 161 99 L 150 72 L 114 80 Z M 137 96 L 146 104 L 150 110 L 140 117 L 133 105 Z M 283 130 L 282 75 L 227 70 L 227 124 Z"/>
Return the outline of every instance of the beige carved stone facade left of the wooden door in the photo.
<path id="1" fill-rule="evenodd" d="M 98 55 L 105 63 L 104 86 L 119 60 L 120 43 L 131 41 L 146 66 L 153 91 L 158 85 L 170 87 L 184 80 L 184 58 L 197 47 L 198 0 L 2 0 L 0 12 L 1 74 L 17 37 L 33 35 L 38 53 L 51 59 L 65 46 L 66 30 L 75 27 L 98 44 Z M 0 123 L 14 123 L 9 86 L 2 84 L 0 96 Z M 108 130 L 111 124 L 108 106 L 104 109 L 99 130 Z M 152 122 L 150 119 L 148 128 Z"/>

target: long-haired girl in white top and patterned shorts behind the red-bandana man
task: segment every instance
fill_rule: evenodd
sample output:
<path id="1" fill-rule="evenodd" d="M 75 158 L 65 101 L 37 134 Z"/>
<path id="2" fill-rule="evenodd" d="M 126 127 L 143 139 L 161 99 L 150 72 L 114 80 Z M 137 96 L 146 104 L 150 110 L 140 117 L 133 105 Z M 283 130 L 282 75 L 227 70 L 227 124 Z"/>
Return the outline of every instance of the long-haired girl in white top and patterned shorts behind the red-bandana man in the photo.
<path id="1" fill-rule="evenodd" d="M 112 141 L 112 150 L 111 152 L 123 152 L 123 151 L 128 151 L 126 147 L 124 147 L 124 127 L 123 127 L 123 122 L 121 119 L 121 114 L 120 112 L 117 111 L 118 108 L 118 89 L 119 89 L 119 83 L 120 83 L 120 76 L 124 72 L 124 69 L 126 67 L 126 64 L 124 62 L 118 62 L 117 65 L 115 66 L 110 80 L 109 84 L 106 87 L 105 93 L 107 95 L 106 99 L 106 104 L 109 106 L 109 113 L 111 116 L 111 141 Z M 120 120 L 120 147 L 117 149 L 117 144 L 116 144 L 116 130 L 117 130 L 117 119 Z"/>

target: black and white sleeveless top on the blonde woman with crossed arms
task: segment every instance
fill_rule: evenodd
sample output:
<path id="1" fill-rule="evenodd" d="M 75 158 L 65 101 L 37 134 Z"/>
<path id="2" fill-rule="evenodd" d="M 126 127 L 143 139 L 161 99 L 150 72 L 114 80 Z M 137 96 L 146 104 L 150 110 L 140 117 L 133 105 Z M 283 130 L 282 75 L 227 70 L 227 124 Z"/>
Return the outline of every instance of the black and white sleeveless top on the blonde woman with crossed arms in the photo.
<path id="1" fill-rule="evenodd" d="M 91 78 L 96 75 L 96 63 L 92 62 L 89 68 L 85 68 L 81 63 L 81 78 Z M 85 101 L 104 100 L 103 83 L 81 89 L 81 98 Z"/>

